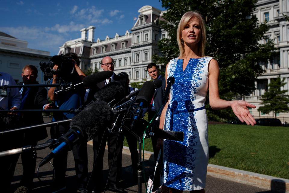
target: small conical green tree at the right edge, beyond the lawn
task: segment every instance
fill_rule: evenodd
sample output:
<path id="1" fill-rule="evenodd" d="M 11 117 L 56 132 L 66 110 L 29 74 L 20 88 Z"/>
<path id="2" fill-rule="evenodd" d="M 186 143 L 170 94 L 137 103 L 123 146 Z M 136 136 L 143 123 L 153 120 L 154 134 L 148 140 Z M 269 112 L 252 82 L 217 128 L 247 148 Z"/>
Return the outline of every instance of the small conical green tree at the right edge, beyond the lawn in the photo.
<path id="1" fill-rule="evenodd" d="M 288 90 L 281 90 L 286 83 L 285 78 L 282 79 L 278 77 L 277 79 L 271 79 L 271 83 L 268 85 L 269 90 L 261 96 L 262 105 L 258 111 L 268 114 L 273 112 L 276 118 L 276 114 L 279 112 L 289 112 L 289 99 L 286 94 Z"/>

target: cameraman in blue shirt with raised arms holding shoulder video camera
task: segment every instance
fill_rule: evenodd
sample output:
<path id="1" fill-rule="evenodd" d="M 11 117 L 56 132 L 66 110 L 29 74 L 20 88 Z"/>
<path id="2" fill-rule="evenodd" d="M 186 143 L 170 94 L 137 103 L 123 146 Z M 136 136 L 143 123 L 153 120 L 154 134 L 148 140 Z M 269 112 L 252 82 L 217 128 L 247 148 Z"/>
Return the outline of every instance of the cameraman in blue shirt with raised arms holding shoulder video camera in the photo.
<path id="1" fill-rule="evenodd" d="M 60 72 L 60 74 L 53 74 L 52 84 L 57 83 L 57 79 L 61 78 L 65 82 L 81 82 L 85 78 L 85 74 L 79 68 L 79 58 L 75 53 L 68 53 L 65 56 L 72 57 L 75 64 L 72 74 L 67 74 L 66 72 Z M 65 64 L 62 64 L 65 65 Z M 53 67 L 57 71 L 58 65 L 55 64 Z M 65 68 L 61 68 L 65 69 Z M 85 88 L 80 87 L 77 89 L 71 89 L 64 93 L 54 95 L 55 87 L 51 87 L 48 91 L 48 96 L 52 101 L 55 101 L 55 105 L 59 109 L 70 109 L 78 108 L 83 104 L 83 98 L 85 94 Z M 52 121 L 59 121 L 64 119 L 73 118 L 74 114 L 69 113 L 54 113 Z M 56 125 L 51 127 L 51 138 L 59 138 L 61 135 L 65 134 L 68 130 L 69 122 Z M 72 148 L 74 162 L 75 162 L 75 172 L 76 172 L 76 182 L 78 184 L 77 192 L 84 192 L 85 186 L 87 184 L 88 168 L 87 168 L 87 143 L 86 141 L 79 141 Z M 62 152 L 60 155 L 56 155 L 53 159 L 53 165 L 55 168 L 55 181 L 52 185 L 52 192 L 65 192 L 65 172 L 67 168 L 67 152 Z"/>

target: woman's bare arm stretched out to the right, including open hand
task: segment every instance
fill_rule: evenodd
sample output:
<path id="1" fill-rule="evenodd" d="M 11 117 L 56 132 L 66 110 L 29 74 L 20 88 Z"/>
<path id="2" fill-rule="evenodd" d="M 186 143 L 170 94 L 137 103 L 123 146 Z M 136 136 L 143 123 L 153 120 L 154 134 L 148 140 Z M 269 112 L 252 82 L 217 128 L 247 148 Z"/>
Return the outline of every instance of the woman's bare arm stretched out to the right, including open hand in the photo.
<path id="1" fill-rule="evenodd" d="M 216 60 L 212 59 L 209 63 L 209 100 L 211 108 L 218 110 L 231 107 L 241 122 L 246 122 L 247 125 L 255 125 L 256 121 L 250 114 L 248 107 L 256 108 L 256 106 L 243 100 L 226 101 L 220 99 L 218 79 L 219 65 Z"/>

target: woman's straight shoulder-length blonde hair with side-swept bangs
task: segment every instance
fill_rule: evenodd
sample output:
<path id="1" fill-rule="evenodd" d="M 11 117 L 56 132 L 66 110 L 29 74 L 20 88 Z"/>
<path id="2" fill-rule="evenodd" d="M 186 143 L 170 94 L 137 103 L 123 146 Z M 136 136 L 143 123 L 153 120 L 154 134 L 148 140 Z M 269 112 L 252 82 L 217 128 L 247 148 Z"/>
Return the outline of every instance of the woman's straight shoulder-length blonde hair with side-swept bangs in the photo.
<path id="1" fill-rule="evenodd" d="M 206 36 L 206 27 L 205 27 L 205 22 L 202 18 L 202 16 L 196 12 L 196 11 L 188 11 L 187 13 L 183 14 L 179 25 L 178 25 L 178 30 L 177 30 L 177 41 L 179 45 L 179 50 L 180 50 L 180 56 L 179 58 L 184 58 L 185 56 L 185 49 L 184 49 L 184 44 L 181 43 L 182 39 L 182 30 L 185 29 L 185 26 L 188 25 L 193 18 L 197 18 L 200 24 L 200 30 L 201 30 L 201 40 L 197 44 L 198 45 L 198 51 L 199 51 L 199 56 L 204 57 L 205 56 L 205 47 L 207 43 L 207 36 Z"/>

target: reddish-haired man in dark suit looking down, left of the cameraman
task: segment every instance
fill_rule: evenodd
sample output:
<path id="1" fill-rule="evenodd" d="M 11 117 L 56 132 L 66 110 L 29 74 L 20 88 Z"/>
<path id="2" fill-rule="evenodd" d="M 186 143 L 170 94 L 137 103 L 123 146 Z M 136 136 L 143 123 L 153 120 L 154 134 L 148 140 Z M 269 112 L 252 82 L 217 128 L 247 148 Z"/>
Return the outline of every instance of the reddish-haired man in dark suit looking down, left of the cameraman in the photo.
<path id="1" fill-rule="evenodd" d="M 26 65 L 22 69 L 23 82 L 19 84 L 39 84 L 36 81 L 38 70 L 33 65 Z M 20 109 L 48 109 L 47 90 L 44 87 L 22 87 L 20 88 L 22 102 Z M 41 124 L 43 122 L 42 112 L 23 112 L 21 113 L 24 126 Z M 47 132 L 45 127 L 26 130 L 22 146 L 36 145 L 37 141 L 45 139 Z M 34 152 L 35 153 L 35 152 Z M 32 188 L 32 182 L 36 166 L 36 155 L 31 153 L 22 153 L 23 176 L 20 186 L 25 186 L 29 190 Z"/>

